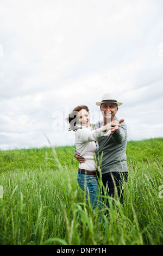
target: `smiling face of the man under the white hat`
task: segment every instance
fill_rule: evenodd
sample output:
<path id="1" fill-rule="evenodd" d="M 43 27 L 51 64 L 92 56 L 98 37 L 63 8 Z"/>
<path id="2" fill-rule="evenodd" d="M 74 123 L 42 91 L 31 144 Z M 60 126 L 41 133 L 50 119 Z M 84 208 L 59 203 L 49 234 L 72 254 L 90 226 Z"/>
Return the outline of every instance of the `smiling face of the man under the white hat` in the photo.
<path id="1" fill-rule="evenodd" d="M 118 111 L 117 104 L 111 102 L 102 103 L 100 109 L 105 123 L 110 123 L 113 121 Z"/>

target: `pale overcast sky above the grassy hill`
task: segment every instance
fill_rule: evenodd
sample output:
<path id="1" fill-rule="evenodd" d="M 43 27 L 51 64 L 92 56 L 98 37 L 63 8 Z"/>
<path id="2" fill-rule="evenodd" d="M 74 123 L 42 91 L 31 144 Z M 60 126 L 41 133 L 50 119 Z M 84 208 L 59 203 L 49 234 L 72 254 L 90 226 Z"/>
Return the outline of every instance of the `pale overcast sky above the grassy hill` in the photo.
<path id="1" fill-rule="evenodd" d="M 0 149 L 74 145 L 77 105 L 115 93 L 128 139 L 162 137 L 162 0 L 0 0 Z"/>

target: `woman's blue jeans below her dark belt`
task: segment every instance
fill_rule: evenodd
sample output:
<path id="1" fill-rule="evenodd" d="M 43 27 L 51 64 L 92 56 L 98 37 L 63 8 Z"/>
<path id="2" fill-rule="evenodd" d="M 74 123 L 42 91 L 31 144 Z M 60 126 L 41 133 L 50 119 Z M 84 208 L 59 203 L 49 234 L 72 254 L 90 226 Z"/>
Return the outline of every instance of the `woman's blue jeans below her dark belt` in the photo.
<path id="1" fill-rule="evenodd" d="M 86 184 L 85 184 L 86 182 Z M 89 200 L 92 205 L 92 209 L 95 210 L 98 206 L 98 210 L 101 210 L 101 198 L 98 198 L 98 179 L 96 175 L 88 175 L 78 173 L 78 183 L 80 188 L 85 191 L 86 188 L 86 202 L 89 205 Z"/>

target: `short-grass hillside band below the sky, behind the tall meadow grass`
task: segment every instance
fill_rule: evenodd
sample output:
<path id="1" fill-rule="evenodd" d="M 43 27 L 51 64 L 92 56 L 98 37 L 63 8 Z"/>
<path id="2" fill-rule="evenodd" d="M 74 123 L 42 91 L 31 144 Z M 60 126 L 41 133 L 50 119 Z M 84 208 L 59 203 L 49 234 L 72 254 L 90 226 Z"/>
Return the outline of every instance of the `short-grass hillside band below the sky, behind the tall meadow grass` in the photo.
<path id="1" fill-rule="evenodd" d="M 163 161 L 162 154 L 163 138 L 147 139 L 144 141 L 129 141 L 127 144 L 127 162 L 141 163 L 155 160 Z M 78 162 L 73 157 L 75 147 L 55 147 L 59 162 L 67 168 L 77 168 Z M 51 148 L 31 148 L 0 151 L 0 172 L 5 170 L 47 170 L 58 169 L 52 157 Z"/>

